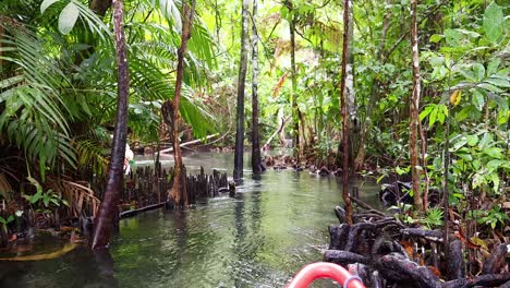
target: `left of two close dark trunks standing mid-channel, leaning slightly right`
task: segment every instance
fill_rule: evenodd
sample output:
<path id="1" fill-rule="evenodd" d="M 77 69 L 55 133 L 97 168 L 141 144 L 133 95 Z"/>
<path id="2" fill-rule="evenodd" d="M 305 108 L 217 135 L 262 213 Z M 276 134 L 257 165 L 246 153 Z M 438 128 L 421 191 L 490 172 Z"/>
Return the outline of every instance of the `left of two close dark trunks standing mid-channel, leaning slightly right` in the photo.
<path id="1" fill-rule="evenodd" d="M 247 69 L 247 43 L 248 43 L 248 5 L 250 0 L 243 0 L 242 28 L 241 28 L 241 59 L 239 62 L 238 79 L 238 115 L 234 152 L 234 180 L 243 178 L 243 152 L 244 152 L 244 86 Z"/>

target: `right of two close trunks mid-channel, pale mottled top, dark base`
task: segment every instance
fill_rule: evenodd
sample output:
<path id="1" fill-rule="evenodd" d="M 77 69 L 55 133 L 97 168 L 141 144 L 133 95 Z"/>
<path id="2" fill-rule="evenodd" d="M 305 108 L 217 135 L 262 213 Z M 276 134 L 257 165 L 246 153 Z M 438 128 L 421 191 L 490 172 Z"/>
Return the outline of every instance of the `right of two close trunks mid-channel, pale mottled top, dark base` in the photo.
<path id="1" fill-rule="evenodd" d="M 253 0 L 252 13 L 252 169 L 254 173 L 263 171 L 260 157 L 260 135 L 258 133 L 258 33 L 257 0 Z"/>

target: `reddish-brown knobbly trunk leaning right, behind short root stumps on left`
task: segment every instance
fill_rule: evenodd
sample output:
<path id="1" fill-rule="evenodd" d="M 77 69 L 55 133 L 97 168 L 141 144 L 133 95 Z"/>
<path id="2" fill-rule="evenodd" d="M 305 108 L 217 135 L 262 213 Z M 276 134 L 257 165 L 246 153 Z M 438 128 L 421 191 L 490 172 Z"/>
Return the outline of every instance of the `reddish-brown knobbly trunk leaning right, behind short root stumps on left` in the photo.
<path id="1" fill-rule="evenodd" d="M 181 103 L 181 89 L 182 89 L 182 77 L 184 74 L 184 53 L 187 48 L 187 41 L 191 38 L 191 29 L 193 25 L 193 14 L 195 13 L 196 0 L 190 4 L 183 2 L 183 17 L 182 17 L 182 35 L 181 35 L 181 47 L 178 50 L 178 69 L 175 76 L 175 93 L 173 95 L 173 103 L 167 101 L 167 115 L 171 113 L 171 131 L 172 144 L 173 144 L 173 159 L 175 161 L 174 173 L 173 173 L 173 185 L 170 191 L 169 200 L 175 204 L 175 206 L 187 206 L 190 205 L 190 195 L 186 189 L 186 171 L 182 164 L 181 146 L 179 142 L 179 106 Z"/>

